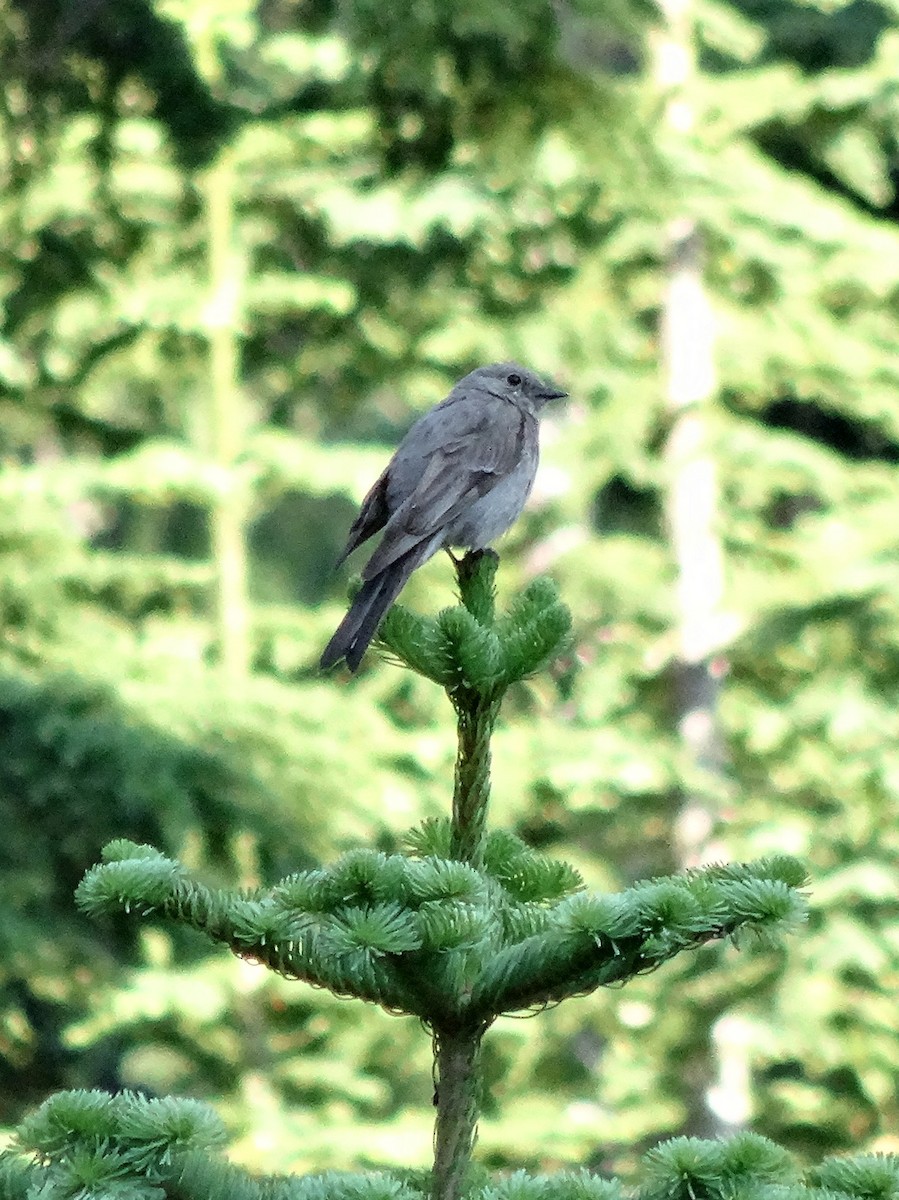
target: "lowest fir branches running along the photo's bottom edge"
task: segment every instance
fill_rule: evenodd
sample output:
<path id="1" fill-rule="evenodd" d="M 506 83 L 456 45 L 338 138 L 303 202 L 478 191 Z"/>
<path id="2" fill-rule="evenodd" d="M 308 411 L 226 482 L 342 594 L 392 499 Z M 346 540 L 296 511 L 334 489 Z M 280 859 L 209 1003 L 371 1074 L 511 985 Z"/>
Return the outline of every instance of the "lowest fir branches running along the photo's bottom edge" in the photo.
<path id="1" fill-rule="evenodd" d="M 134 1093 L 68 1092 L 53 1097 L 20 1127 L 14 1150 L 0 1156 L 0 1188 L 10 1200 L 115 1196 L 154 1200 L 415 1200 L 425 1181 L 412 1172 L 329 1172 L 305 1178 L 248 1176 L 217 1157 L 224 1132 L 214 1114 L 190 1100 Z M 22 1157 L 37 1156 L 36 1163 Z M 679 1138 L 643 1159 L 636 1188 L 589 1171 L 550 1176 L 514 1172 L 477 1181 L 466 1200 L 889 1200 L 899 1164 L 888 1156 L 829 1159 L 803 1172 L 765 1138 L 726 1141 Z"/>

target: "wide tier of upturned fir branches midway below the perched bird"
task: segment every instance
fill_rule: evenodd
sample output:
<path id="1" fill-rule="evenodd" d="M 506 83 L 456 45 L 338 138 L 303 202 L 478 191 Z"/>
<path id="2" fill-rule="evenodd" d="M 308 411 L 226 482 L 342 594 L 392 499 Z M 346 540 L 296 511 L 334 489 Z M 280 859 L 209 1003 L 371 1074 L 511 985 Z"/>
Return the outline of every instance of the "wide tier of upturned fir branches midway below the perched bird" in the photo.
<path id="1" fill-rule="evenodd" d="M 802 869 L 790 859 L 591 896 L 565 864 L 534 858 L 531 869 L 523 844 L 514 847 L 510 890 L 510 847 L 491 848 L 487 863 L 499 871 L 486 866 L 481 878 L 445 859 L 352 852 L 328 871 L 235 895 L 119 841 L 77 895 L 91 916 L 160 912 L 290 979 L 430 1024 L 450 1015 L 490 1024 L 655 970 L 711 938 L 771 935 L 803 916 L 793 890 Z"/>

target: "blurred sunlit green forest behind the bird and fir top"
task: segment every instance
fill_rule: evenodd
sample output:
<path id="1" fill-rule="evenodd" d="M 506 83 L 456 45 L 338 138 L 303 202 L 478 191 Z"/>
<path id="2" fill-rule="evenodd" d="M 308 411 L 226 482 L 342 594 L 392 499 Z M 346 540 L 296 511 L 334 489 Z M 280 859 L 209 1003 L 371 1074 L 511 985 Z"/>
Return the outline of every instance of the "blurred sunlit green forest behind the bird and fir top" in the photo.
<path id="1" fill-rule="evenodd" d="M 250 884 L 446 810 L 443 697 L 316 662 L 391 448 L 519 358 L 571 398 L 501 586 L 575 641 L 495 822 L 598 889 L 798 854 L 813 916 L 499 1022 L 480 1157 L 894 1147 L 898 20 L 0 0 L 0 1124 L 128 1086 L 269 1171 L 427 1162 L 414 1022 L 72 890 L 113 836 Z M 404 602 L 451 596 L 438 556 Z"/>

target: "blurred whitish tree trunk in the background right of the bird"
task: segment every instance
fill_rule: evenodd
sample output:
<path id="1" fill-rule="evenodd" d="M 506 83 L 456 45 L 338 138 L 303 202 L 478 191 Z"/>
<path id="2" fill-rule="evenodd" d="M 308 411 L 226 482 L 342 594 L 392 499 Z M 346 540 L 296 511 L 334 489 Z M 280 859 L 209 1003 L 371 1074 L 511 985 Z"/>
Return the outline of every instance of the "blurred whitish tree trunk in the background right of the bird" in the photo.
<path id="1" fill-rule="evenodd" d="M 666 137 L 675 156 L 691 152 L 695 49 L 691 0 L 660 0 L 664 26 L 657 41 L 657 83 L 665 96 Z M 677 170 L 675 176 L 677 178 Z M 714 655 L 724 635 L 724 553 L 717 530 L 718 479 L 709 442 L 715 396 L 714 319 L 703 284 L 701 232 L 689 211 L 669 229 L 669 278 L 663 314 L 663 360 L 671 432 L 665 446 L 667 522 L 677 572 L 677 725 L 696 767 L 724 776 Z M 724 779 L 720 779 L 724 784 Z M 726 858 L 717 842 L 708 796 L 685 796 L 675 824 L 682 868 Z M 684 1076 L 693 1087 L 691 1134 L 732 1133 L 751 1111 L 749 1031 L 727 1014 L 696 1043 Z"/>

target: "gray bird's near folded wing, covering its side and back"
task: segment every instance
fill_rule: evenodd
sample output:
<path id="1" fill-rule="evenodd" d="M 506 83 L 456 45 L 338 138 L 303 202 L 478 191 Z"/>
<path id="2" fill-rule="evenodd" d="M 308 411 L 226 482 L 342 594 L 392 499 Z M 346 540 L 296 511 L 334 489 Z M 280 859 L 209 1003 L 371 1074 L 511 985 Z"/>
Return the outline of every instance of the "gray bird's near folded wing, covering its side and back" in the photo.
<path id="1" fill-rule="evenodd" d="M 389 470 L 406 473 L 415 464 L 420 470 L 412 491 L 386 521 L 384 538 L 362 578 L 372 578 L 413 546 L 433 538 L 517 464 L 526 432 L 523 414 L 504 401 L 485 407 L 483 400 L 475 404 L 466 398 L 454 408 L 444 436 L 436 425 L 433 432 L 425 430 L 430 444 L 412 445 L 406 457 L 401 457 L 402 446 L 397 451 Z"/>

